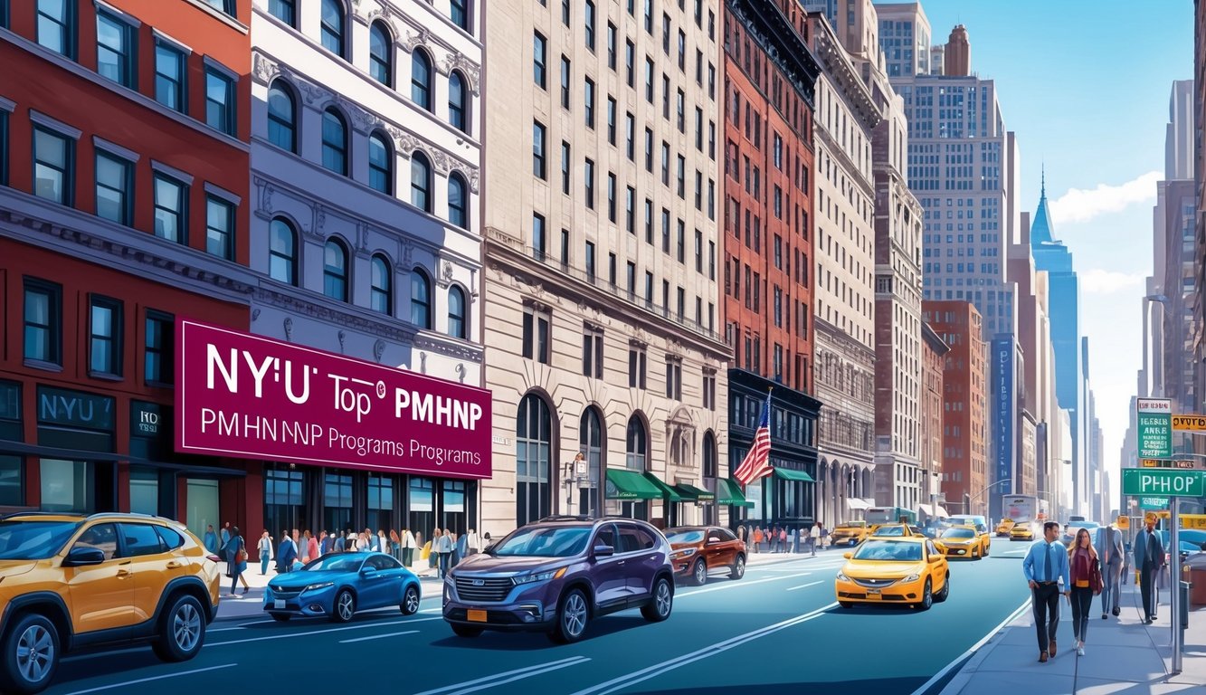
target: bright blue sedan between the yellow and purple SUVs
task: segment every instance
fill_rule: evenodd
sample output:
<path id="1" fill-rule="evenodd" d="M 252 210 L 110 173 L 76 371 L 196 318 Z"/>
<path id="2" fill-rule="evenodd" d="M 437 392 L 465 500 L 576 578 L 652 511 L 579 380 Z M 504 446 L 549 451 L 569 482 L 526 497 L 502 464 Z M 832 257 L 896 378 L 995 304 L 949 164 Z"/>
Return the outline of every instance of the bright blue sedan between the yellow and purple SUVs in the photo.
<path id="1" fill-rule="evenodd" d="M 294 572 L 277 574 L 264 590 L 264 611 L 347 623 L 357 611 L 397 606 L 418 612 L 418 578 L 385 553 L 333 553 Z"/>

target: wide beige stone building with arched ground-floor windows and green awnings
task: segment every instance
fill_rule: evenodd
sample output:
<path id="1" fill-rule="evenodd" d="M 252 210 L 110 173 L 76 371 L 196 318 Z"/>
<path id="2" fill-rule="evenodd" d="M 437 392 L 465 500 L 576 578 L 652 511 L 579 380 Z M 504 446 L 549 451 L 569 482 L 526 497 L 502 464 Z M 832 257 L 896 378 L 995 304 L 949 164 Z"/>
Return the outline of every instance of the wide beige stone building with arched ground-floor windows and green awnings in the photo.
<path id="1" fill-rule="evenodd" d="M 498 47 L 482 95 L 497 106 L 482 526 L 550 513 L 727 522 L 740 501 L 718 314 L 719 2 L 480 6 Z"/>

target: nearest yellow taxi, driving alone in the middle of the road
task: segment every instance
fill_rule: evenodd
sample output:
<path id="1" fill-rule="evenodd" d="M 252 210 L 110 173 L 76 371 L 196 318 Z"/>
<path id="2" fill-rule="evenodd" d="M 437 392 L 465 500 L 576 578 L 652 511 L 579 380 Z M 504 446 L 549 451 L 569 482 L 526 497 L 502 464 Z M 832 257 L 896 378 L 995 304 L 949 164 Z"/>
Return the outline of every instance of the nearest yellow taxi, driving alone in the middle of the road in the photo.
<path id="1" fill-rule="evenodd" d="M 843 608 L 907 603 L 926 611 L 950 595 L 947 556 L 924 536 L 867 538 L 845 559 L 833 585 Z"/>

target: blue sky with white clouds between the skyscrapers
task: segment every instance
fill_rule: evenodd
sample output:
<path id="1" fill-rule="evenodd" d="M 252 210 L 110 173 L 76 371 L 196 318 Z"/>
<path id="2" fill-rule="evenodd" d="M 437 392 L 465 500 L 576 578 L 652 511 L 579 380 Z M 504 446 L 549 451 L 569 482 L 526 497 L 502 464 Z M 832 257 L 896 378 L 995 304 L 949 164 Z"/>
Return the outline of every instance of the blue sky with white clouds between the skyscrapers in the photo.
<path id="1" fill-rule="evenodd" d="M 944 43 L 955 24 L 967 27 L 972 70 L 997 83 L 1006 128 L 1018 134 L 1021 210 L 1037 206 L 1046 163 L 1055 236 L 1071 249 L 1081 275 L 1081 329 L 1089 337 L 1103 459 L 1114 468 L 1142 357 L 1140 304 L 1152 273 L 1160 177 L 1152 173 L 1164 170 L 1172 82 L 1193 77 L 1193 1 L 921 6 L 935 43 Z"/>

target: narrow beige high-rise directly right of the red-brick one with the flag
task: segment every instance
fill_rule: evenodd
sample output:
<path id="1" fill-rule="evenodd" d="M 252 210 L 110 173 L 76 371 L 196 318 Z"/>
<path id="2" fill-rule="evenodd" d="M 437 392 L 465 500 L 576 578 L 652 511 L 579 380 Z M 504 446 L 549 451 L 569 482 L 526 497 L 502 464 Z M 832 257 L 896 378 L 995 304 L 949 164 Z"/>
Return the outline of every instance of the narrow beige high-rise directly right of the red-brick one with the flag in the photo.
<path id="1" fill-rule="evenodd" d="M 874 506 L 876 296 L 872 132 L 880 113 L 829 19 L 808 16 L 816 80 L 815 338 L 818 519 L 827 527 Z"/>

